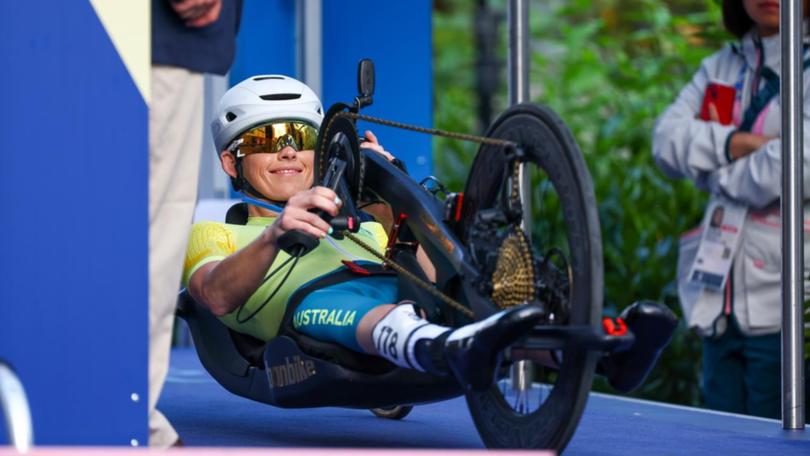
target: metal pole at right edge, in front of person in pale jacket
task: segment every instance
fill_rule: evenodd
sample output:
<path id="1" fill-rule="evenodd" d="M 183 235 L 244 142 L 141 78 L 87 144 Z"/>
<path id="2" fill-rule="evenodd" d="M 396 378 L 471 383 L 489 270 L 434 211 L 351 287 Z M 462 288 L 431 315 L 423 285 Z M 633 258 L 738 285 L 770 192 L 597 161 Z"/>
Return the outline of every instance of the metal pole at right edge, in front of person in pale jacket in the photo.
<path id="1" fill-rule="evenodd" d="M 804 429 L 802 0 L 784 0 L 781 5 L 782 427 Z"/>

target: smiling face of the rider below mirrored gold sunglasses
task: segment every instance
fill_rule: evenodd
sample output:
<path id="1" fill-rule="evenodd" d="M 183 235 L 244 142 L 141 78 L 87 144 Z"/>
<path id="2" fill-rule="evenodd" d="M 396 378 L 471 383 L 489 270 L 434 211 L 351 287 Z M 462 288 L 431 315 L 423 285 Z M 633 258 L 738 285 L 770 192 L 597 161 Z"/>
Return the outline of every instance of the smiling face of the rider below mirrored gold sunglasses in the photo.
<path id="1" fill-rule="evenodd" d="M 222 166 L 236 176 L 233 156 L 223 154 Z M 315 151 L 287 146 L 275 153 L 254 153 L 242 158 L 242 173 L 257 191 L 273 201 L 287 201 L 312 186 Z"/>

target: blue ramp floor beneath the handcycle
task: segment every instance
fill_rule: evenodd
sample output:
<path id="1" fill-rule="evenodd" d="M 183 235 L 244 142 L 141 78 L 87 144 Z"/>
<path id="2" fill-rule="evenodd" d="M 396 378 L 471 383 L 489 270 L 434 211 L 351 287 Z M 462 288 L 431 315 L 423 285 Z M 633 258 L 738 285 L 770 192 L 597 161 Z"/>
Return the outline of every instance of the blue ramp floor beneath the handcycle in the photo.
<path id="1" fill-rule="evenodd" d="M 191 446 L 483 448 L 463 398 L 402 421 L 366 410 L 279 409 L 219 386 L 191 349 L 172 353 L 158 407 Z M 591 394 L 566 455 L 810 455 L 810 431 L 776 420 Z"/>

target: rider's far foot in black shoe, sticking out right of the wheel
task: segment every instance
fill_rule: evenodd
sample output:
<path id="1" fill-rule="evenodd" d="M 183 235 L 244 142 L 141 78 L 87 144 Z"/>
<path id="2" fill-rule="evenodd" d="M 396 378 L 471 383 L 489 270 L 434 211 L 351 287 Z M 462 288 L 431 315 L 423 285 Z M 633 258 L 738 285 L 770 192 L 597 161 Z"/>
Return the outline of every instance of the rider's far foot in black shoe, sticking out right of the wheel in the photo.
<path id="1" fill-rule="evenodd" d="M 626 351 L 599 360 L 597 373 L 605 375 L 613 389 L 629 393 L 638 388 L 669 343 L 678 318 L 666 306 L 653 301 L 631 304 L 619 315 L 636 340 Z"/>

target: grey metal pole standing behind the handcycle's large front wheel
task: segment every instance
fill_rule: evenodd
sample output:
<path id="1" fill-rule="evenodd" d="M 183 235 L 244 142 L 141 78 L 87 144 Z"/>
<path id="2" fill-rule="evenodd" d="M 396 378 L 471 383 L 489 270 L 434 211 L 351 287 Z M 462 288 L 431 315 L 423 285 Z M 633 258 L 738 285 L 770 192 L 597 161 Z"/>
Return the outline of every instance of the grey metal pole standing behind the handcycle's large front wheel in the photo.
<path id="1" fill-rule="evenodd" d="M 509 0 L 509 104 L 529 101 L 529 1 Z M 521 228 L 531 236 L 531 190 L 527 170 L 520 165 Z M 518 361 L 510 371 L 512 389 L 517 391 L 518 410 L 528 413 L 528 391 L 532 385 L 531 363 Z"/>

